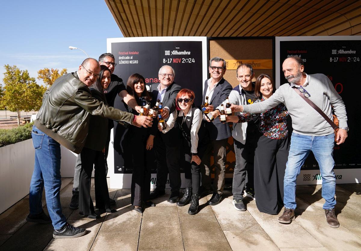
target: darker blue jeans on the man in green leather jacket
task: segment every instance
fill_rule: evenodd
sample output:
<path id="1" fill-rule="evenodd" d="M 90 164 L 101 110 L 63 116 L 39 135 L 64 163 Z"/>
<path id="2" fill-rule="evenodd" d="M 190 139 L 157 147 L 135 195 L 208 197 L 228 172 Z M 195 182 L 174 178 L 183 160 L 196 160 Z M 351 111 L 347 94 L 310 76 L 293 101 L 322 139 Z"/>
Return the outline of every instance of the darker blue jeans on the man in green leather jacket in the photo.
<path id="1" fill-rule="evenodd" d="M 58 230 L 66 224 L 60 204 L 60 144 L 36 126 L 32 127 L 31 136 L 35 148 L 35 164 L 30 182 L 30 214 L 42 212 L 42 195 L 45 187 L 49 216 L 54 229 Z"/>

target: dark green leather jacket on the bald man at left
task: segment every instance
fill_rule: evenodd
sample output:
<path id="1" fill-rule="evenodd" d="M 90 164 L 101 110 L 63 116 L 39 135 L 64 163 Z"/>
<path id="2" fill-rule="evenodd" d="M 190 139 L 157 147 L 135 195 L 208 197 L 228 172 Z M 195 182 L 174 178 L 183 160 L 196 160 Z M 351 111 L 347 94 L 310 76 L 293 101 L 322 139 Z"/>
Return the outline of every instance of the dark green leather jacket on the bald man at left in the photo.
<path id="1" fill-rule="evenodd" d="M 35 126 L 79 154 L 88 135 L 90 115 L 132 123 L 134 115 L 99 102 L 77 72 L 61 76 L 43 96 Z"/>

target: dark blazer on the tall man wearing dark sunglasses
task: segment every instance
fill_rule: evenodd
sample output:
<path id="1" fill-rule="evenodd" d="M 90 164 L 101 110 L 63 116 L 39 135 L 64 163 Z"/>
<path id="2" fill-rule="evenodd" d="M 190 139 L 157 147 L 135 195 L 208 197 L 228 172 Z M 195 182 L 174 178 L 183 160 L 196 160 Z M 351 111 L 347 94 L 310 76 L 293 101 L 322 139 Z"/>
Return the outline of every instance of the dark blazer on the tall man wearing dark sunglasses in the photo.
<path id="1" fill-rule="evenodd" d="M 205 100 L 205 94 L 207 92 L 208 88 L 208 79 L 205 80 L 204 83 L 204 91 L 203 91 L 203 100 L 202 103 L 204 103 Z M 216 88 L 214 88 L 214 92 L 212 95 L 211 100 L 209 100 L 209 104 L 213 105 L 214 108 L 221 105 L 223 101 L 226 100 L 226 97 L 229 96 L 229 94 L 232 91 L 232 85 L 228 83 L 227 80 L 224 78 L 219 81 Z M 210 140 L 223 140 L 225 138 L 231 137 L 231 130 L 229 128 L 229 124 L 225 123 L 222 124 L 221 120 L 218 118 L 214 119 L 213 122 L 208 122 L 205 124 L 206 128 L 208 129 Z"/>

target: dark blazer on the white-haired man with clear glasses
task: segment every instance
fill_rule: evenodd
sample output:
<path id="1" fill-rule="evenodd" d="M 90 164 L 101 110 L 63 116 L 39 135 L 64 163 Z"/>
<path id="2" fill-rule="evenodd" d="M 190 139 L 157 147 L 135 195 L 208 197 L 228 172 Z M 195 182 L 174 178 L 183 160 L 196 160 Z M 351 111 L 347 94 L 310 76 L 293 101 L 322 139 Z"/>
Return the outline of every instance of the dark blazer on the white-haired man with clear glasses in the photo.
<path id="1" fill-rule="evenodd" d="M 158 85 L 160 83 L 154 83 L 151 85 L 151 93 L 152 98 L 157 101 L 158 96 Z M 163 107 L 169 107 L 169 114 L 173 113 L 175 110 L 175 97 L 177 97 L 178 92 L 182 89 L 182 87 L 175 82 L 171 83 L 167 90 L 165 91 L 164 98 L 163 98 Z M 166 119 L 168 120 L 168 118 Z M 154 124 L 154 122 L 153 122 Z M 162 137 L 165 145 L 173 146 L 179 144 L 178 138 L 180 138 L 180 131 L 178 128 L 178 124 L 175 123 L 174 127 L 167 133 L 161 133 L 158 131 L 157 137 Z"/>

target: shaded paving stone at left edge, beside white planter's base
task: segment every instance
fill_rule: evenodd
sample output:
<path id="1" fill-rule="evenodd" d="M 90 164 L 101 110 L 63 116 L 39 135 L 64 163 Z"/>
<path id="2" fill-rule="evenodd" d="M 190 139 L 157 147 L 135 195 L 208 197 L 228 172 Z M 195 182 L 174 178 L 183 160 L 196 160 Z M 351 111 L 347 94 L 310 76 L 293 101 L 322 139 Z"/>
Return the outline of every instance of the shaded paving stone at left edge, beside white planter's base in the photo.
<path id="1" fill-rule="evenodd" d="M 0 215 L 0 234 L 14 234 L 26 223 L 29 199 L 21 199 Z"/>

